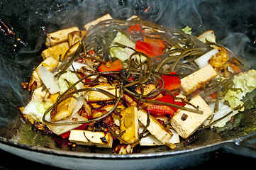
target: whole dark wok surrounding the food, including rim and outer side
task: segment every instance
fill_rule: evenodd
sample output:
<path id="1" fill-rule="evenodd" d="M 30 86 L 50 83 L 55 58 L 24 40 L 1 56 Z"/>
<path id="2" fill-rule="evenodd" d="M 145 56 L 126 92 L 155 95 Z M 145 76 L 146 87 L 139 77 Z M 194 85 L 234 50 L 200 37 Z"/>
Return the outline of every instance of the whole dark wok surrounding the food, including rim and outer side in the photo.
<path id="1" fill-rule="evenodd" d="M 35 130 L 23 120 L 18 107 L 26 106 L 29 81 L 41 62 L 46 33 L 82 26 L 106 13 L 113 18 L 143 19 L 184 28 L 194 35 L 214 30 L 226 45 L 255 67 L 255 1 L 0 1 L 0 19 L 15 35 L 0 33 L 0 149 L 20 157 L 66 169 L 182 169 L 204 163 L 222 150 L 256 158 L 256 110 L 235 115 L 224 128 L 198 130 L 198 140 L 176 149 L 135 147 L 133 154 L 112 154 L 112 149 L 79 147 L 71 151 L 68 140 Z"/>

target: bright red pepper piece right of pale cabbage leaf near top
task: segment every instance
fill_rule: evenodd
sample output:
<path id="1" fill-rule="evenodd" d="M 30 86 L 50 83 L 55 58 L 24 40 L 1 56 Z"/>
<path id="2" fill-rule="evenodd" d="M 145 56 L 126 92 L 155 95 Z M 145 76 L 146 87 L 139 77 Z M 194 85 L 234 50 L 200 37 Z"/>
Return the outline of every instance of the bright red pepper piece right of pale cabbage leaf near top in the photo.
<path id="1" fill-rule="evenodd" d="M 143 52 L 145 55 L 148 55 L 148 57 L 162 55 L 162 49 L 160 47 L 140 40 L 136 41 L 135 50 L 138 52 Z"/>

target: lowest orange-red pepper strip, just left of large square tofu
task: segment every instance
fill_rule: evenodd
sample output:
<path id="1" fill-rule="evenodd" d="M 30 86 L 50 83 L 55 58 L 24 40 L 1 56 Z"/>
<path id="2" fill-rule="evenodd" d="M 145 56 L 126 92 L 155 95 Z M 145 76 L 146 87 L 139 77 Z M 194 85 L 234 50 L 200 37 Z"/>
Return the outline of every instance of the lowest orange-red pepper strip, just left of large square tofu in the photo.
<path id="1" fill-rule="evenodd" d="M 174 111 L 169 106 L 149 104 L 147 110 L 152 115 L 174 115 Z"/>

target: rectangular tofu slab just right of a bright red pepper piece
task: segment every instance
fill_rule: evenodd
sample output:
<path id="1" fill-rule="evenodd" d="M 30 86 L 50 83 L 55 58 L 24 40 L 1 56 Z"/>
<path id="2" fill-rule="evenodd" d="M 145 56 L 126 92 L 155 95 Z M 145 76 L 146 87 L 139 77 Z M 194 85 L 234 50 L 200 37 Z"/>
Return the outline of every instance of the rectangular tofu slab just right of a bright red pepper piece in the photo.
<path id="1" fill-rule="evenodd" d="M 211 81 L 214 77 L 218 76 L 218 73 L 211 67 L 210 64 L 206 65 L 199 69 L 198 71 L 189 74 L 189 76 L 181 79 L 180 89 L 184 92 L 184 94 L 188 95 L 191 92 L 201 88 L 204 84 Z"/>

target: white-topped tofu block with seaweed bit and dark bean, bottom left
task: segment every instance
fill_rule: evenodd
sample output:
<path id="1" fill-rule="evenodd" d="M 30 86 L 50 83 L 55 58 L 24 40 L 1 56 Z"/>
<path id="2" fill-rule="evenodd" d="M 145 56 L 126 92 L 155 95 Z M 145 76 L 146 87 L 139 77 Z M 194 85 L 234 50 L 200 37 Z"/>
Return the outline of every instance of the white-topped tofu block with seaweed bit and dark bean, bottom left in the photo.
<path id="1" fill-rule="evenodd" d="M 113 138 L 108 132 L 91 132 L 89 130 L 70 130 L 69 141 L 77 145 L 111 148 Z"/>

